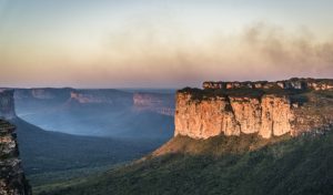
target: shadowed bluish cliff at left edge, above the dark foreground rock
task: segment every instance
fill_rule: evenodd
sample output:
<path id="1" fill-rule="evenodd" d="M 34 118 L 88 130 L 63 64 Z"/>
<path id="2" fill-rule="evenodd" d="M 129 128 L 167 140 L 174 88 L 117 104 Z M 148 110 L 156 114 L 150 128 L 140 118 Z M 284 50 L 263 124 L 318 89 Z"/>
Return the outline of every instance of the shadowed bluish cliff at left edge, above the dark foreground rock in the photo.
<path id="1" fill-rule="evenodd" d="M 13 90 L 0 90 L 0 117 L 14 119 Z"/>

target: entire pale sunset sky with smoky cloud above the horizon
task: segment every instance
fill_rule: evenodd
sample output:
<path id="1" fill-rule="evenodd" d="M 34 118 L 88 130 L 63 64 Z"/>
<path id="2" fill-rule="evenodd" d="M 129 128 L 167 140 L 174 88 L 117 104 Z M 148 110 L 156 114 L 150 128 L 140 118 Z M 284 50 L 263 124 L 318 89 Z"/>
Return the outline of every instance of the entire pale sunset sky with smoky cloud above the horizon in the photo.
<path id="1" fill-rule="evenodd" d="M 0 86 L 333 78 L 332 0 L 0 0 Z"/>

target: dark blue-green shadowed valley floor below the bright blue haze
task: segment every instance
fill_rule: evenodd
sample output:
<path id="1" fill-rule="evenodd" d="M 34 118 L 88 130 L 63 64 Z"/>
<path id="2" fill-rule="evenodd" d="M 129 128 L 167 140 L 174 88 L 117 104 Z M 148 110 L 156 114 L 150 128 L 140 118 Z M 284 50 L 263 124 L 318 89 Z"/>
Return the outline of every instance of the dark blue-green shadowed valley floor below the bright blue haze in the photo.
<path id="1" fill-rule="evenodd" d="M 21 119 L 11 123 L 17 126 L 20 157 L 33 191 L 139 158 L 162 144 L 49 132 Z"/>

